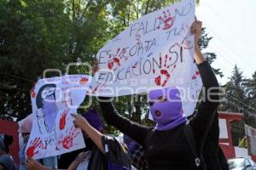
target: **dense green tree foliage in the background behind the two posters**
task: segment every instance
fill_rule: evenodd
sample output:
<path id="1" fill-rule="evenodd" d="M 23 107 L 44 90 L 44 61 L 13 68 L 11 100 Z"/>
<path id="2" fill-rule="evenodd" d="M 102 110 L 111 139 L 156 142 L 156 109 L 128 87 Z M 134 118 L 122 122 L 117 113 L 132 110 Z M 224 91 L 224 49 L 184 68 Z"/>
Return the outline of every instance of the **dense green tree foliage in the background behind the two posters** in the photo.
<path id="1" fill-rule="evenodd" d="M 20 120 L 32 112 L 30 90 L 46 69 L 60 69 L 64 74 L 69 63 L 91 63 L 96 52 L 132 21 L 174 2 L 177 0 L 1 0 L 0 118 Z M 211 38 L 204 29 L 202 49 Z M 210 62 L 216 59 L 213 53 L 205 55 Z M 70 73 L 88 71 L 78 66 Z M 58 75 L 49 72 L 47 76 Z M 124 96 L 116 105 L 132 120 L 152 124 L 145 119 L 146 95 Z"/>

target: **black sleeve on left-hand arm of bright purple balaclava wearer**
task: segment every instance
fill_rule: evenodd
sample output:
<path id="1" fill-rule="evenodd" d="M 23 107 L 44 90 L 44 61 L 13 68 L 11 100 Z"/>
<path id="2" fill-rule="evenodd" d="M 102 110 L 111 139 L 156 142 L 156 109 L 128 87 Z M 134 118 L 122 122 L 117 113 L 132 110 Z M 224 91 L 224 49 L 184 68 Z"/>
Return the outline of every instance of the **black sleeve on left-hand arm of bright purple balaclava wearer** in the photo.
<path id="1" fill-rule="evenodd" d="M 108 102 L 109 98 L 100 98 L 101 100 L 105 100 L 99 102 L 102 108 L 102 113 L 104 119 L 108 124 L 113 125 L 121 131 L 129 136 L 131 139 L 134 139 L 138 144 L 144 145 L 144 139 L 150 130 L 149 127 L 144 127 L 139 125 L 136 122 L 131 122 L 129 119 L 124 116 L 120 116 L 118 111 L 113 106 L 112 102 Z"/>

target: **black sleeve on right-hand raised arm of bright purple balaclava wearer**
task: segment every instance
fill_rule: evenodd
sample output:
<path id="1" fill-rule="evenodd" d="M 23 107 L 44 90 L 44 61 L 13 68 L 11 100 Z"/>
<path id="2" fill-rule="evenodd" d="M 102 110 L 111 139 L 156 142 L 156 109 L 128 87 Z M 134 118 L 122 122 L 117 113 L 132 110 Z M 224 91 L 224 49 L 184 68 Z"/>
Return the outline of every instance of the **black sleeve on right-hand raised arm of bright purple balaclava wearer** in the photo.
<path id="1" fill-rule="evenodd" d="M 197 65 L 203 82 L 204 97 L 198 106 L 196 115 L 190 119 L 190 125 L 194 131 L 198 144 L 204 141 L 207 133 L 212 127 L 214 115 L 218 109 L 218 81 L 211 65 L 205 61 Z"/>

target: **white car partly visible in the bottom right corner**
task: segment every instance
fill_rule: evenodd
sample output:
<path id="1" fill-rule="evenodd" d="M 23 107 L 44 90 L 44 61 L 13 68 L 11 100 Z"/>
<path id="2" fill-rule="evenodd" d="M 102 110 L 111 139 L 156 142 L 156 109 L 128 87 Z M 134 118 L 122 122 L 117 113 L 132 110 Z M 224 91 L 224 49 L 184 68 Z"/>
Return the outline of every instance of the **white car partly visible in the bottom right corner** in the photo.
<path id="1" fill-rule="evenodd" d="M 230 170 L 256 170 L 256 164 L 250 158 L 234 158 L 228 160 Z"/>

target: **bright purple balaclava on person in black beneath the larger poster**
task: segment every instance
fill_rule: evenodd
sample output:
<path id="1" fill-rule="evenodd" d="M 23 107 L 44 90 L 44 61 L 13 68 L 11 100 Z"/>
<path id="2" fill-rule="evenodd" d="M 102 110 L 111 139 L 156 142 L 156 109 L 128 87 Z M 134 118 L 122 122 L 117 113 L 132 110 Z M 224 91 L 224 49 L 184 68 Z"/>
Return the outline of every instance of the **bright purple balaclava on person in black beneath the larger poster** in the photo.
<path id="1" fill-rule="evenodd" d="M 161 98 L 162 97 L 162 98 Z M 162 88 L 149 92 L 150 113 L 160 131 L 172 129 L 187 121 L 177 88 Z"/>

